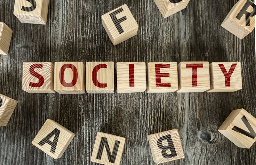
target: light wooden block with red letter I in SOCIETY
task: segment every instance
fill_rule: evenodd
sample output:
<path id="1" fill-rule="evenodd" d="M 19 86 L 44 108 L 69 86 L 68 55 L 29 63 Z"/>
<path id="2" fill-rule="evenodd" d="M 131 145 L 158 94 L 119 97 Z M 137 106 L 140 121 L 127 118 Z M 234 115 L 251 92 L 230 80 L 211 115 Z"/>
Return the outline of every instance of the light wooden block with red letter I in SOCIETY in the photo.
<path id="1" fill-rule="evenodd" d="M 117 62 L 117 93 L 144 92 L 147 88 L 145 62 Z"/>

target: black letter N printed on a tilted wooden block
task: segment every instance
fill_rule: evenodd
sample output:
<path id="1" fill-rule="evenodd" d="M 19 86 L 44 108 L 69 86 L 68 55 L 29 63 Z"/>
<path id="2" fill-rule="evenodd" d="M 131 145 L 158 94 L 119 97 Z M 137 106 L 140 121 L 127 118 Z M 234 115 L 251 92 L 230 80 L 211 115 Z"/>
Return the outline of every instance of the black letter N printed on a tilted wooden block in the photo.
<path id="1" fill-rule="evenodd" d="M 98 151 L 96 159 L 99 159 L 99 160 L 101 159 L 103 148 L 105 146 L 107 154 L 108 154 L 108 161 L 110 163 L 115 163 L 115 161 L 116 161 L 116 154 L 117 154 L 117 151 L 118 151 L 119 143 L 120 143 L 120 141 L 116 140 L 115 146 L 114 146 L 114 149 L 113 149 L 113 153 L 111 154 L 109 146 L 108 146 L 108 139 L 104 138 L 104 137 L 101 137 L 100 147 L 99 147 L 99 151 Z"/>

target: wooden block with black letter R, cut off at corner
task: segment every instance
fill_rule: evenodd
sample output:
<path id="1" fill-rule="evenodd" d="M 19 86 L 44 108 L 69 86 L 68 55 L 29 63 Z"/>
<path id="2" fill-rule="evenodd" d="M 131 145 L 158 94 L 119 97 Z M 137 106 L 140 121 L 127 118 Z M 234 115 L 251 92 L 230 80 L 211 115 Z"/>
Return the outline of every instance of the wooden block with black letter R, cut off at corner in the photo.
<path id="1" fill-rule="evenodd" d="M 221 26 L 243 39 L 255 27 L 255 4 L 250 0 L 240 0 L 228 13 Z"/>

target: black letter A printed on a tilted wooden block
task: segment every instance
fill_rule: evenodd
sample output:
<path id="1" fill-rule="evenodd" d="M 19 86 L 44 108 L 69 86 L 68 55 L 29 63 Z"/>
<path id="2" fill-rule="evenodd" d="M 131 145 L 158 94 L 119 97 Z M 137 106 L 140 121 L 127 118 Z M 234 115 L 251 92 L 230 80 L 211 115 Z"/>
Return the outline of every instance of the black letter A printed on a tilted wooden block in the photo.
<path id="1" fill-rule="evenodd" d="M 52 138 L 52 136 L 54 136 L 54 140 L 50 141 L 50 139 Z M 57 128 L 55 128 L 51 133 L 49 133 L 43 140 L 41 140 L 38 144 L 40 146 L 43 146 L 45 143 L 48 143 L 52 146 L 51 148 L 51 152 L 54 154 L 55 150 L 56 150 L 56 146 L 59 140 L 59 136 L 60 136 L 60 130 L 58 130 Z"/>

